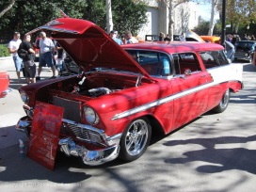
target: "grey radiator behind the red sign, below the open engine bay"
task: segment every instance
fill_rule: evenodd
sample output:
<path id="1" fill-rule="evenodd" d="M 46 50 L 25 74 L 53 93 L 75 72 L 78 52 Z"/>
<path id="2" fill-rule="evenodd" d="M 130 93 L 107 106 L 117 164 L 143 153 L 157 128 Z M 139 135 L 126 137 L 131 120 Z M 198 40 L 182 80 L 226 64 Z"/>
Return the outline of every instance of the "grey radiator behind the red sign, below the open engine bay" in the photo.
<path id="1" fill-rule="evenodd" d="M 63 118 L 79 122 L 81 119 L 81 103 L 53 96 L 53 104 L 64 108 Z"/>

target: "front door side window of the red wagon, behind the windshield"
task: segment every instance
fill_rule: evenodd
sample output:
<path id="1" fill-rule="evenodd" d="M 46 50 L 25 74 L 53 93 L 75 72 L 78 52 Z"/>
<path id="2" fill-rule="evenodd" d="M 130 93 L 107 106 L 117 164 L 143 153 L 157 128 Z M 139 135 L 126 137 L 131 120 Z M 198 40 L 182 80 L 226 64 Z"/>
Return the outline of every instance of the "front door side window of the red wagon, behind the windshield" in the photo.
<path id="1" fill-rule="evenodd" d="M 173 54 L 175 73 L 184 74 L 186 70 L 201 72 L 198 57 L 193 53 Z"/>

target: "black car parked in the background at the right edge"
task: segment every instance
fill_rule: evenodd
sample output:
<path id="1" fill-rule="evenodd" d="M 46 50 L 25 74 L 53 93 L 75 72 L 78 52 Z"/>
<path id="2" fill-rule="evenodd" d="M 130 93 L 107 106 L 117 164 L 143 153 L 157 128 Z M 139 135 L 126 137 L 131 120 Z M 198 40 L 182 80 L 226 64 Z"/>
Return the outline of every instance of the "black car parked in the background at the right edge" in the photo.
<path id="1" fill-rule="evenodd" d="M 234 44 L 235 53 L 234 60 L 246 60 L 251 63 L 253 59 L 256 41 L 254 40 L 237 40 Z"/>

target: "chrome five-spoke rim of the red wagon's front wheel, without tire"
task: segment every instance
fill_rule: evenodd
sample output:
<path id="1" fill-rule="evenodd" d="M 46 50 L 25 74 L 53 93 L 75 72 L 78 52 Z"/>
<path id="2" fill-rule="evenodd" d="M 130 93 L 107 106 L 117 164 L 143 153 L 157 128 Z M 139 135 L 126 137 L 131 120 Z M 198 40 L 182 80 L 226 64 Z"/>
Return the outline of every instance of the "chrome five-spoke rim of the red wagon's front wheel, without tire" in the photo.
<path id="1" fill-rule="evenodd" d="M 130 155 L 136 155 L 143 151 L 149 136 L 148 124 L 144 120 L 134 121 L 128 128 L 125 137 L 125 148 Z"/>

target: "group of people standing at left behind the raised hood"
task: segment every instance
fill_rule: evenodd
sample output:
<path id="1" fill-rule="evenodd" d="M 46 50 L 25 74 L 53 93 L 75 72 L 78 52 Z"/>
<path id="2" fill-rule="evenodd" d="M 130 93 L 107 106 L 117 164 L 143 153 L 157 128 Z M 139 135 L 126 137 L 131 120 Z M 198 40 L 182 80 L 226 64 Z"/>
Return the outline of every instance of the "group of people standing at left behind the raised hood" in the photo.
<path id="1" fill-rule="evenodd" d="M 55 40 L 46 37 L 45 32 L 40 32 L 40 63 L 37 70 L 35 64 L 35 50 L 30 42 L 31 36 L 24 35 L 24 40 L 21 40 L 21 34 L 14 32 L 13 39 L 8 43 L 8 52 L 12 55 L 18 84 L 22 84 L 21 72 L 24 74 L 26 84 L 36 83 L 40 80 L 40 72 L 42 67 L 49 67 L 53 72 L 50 79 L 56 78 L 56 66 L 62 65 L 64 62 L 65 53 L 62 47 Z M 57 57 L 55 58 L 57 53 Z"/>

